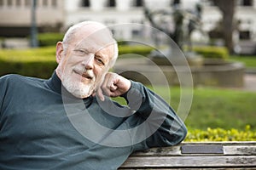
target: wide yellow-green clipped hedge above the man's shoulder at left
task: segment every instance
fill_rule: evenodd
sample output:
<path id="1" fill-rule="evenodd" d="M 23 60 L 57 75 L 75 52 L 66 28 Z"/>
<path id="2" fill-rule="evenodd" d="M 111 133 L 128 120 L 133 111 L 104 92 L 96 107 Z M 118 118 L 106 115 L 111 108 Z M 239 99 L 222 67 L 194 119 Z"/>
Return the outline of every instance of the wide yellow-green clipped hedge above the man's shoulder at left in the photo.
<path id="1" fill-rule="evenodd" d="M 49 78 L 56 67 L 55 48 L 0 51 L 0 76 L 15 73 Z"/>

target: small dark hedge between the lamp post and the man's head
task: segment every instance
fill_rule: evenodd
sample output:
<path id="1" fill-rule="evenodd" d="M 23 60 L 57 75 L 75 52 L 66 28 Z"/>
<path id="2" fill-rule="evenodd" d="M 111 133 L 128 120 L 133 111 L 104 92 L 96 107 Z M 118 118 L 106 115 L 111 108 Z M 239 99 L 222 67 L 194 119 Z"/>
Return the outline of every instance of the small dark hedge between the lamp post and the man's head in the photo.
<path id="1" fill-rule="evenodd" d="M 62 41 L 63 36 L 61 33 L 40 33 L 38 34 L 39 46 L 55 46 L 56 42 Z"/>

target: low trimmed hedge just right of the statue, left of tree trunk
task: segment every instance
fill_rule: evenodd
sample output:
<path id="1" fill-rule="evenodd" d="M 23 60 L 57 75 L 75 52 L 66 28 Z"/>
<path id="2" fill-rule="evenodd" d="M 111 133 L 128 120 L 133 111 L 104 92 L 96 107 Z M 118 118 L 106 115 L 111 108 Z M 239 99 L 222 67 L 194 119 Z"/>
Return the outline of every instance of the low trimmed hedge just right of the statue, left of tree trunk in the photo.
<path id="1" fill-rule="evenodd" d="M 198 46 L 194 47 L 193 50 L 204 58 L 227 59 L 229 57 L 229 51 L 224 47 Z"/>

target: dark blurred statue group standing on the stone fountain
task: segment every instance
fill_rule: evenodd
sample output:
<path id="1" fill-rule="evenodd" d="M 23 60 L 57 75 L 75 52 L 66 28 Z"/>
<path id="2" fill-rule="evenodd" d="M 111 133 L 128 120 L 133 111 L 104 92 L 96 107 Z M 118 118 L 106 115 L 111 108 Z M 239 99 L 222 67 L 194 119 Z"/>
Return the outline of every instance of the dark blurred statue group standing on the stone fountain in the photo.
<path id="1" fill-rule="evenodd" d="M 144 8 L 144 14 L 151 26 L 165 32 L 177 43 L 179 48 L 183 49 L 186 42 L 189 49 L 192 49 L 191 33 L 195 30 L 201 30 L 201 5 L 196 4 L 193 11 L 180 8 L 177 5 L 173 5 L 170 11 Z M 188 22 L 185 22 L 185 20 Z M 172 26 L 174 29 L 170 28 Z M 184 28 L 187 28 L 187 30 Z"/>

